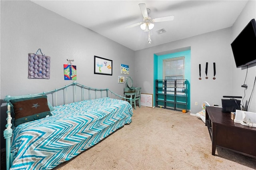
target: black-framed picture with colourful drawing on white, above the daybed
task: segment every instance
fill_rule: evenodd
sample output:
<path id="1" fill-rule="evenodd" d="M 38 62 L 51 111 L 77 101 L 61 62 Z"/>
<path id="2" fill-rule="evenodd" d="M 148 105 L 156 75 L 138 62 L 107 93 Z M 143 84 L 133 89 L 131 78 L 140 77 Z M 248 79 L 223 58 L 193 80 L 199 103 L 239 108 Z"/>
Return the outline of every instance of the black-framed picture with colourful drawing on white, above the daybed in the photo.
<path id="1" fill-rule="evenodd" d="M 112 60 L 94 55 L 94 74 L 112 75 Z"/>

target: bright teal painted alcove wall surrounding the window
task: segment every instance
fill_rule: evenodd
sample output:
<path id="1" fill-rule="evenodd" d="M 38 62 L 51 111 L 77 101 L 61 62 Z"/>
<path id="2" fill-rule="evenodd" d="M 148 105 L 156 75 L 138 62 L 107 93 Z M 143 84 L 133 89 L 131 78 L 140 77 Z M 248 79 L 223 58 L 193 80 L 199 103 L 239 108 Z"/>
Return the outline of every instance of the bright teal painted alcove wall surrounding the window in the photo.
<path id="1" fill-rule="evenodd" d="M 156 90 L 156 80 L 163 79 L 163 60 L 169 58 L 176 58 L 176 57 L 185 57 L 185 77 L 184 79 L 188 80 L 188 107 L 187 109 L 190 110 L 190 79 L 191 79 L 191 51 L 180 51 L 176 53 L 169 53 L 165 55 L 155 55 L 154 54 L 154 94 Z M 155 99 L 155 96 L 154 96 Z M 154 103 L 155 104 L 155 103 Z"/>

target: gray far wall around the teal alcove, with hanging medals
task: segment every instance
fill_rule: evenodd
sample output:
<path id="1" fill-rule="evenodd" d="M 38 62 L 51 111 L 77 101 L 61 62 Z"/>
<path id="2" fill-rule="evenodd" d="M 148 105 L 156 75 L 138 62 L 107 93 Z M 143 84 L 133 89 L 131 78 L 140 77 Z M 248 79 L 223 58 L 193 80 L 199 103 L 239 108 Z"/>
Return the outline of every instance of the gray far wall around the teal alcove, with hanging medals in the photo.
<path id="1" fill-rule="evenodd" d="M 232 57 L 230 54 L 230 28 L 178 40 L 175 42 L 166 43 L 156 47 L 143 49 L 135 52 L 135 73 L 136 85 L 142 86 L 142 93 L 153 93 L 153 70 L 154 53 L 167 51 L 170 53 L 176 49 L 191 47 L 191 82 L 190 82 L 190 101 L 191 113 L 197 113 L 202 110 L 201 103 L 207 101 L 210 105 L 221 105 L 223 95 L 231 95 L 230 88 L 232 77 Z M 144 67 L 139 67 L 139 63 L 147 67 L 147 72 Z M 206 75 L 205 65 L 208 62 L 208 77 Z M 216 79 L 213 80 L 213 62 L 216 63 Z M 198 65 L 201 64 L 201 77 L 199 80 Z M 138 76 L 137 76 L 138 75 Z M 143 78 L 142 78 L 143 77 Z M 147 91 L 146 91 L 147 90 Z M 198 106 L 194 103 L 198 102 Z"/>

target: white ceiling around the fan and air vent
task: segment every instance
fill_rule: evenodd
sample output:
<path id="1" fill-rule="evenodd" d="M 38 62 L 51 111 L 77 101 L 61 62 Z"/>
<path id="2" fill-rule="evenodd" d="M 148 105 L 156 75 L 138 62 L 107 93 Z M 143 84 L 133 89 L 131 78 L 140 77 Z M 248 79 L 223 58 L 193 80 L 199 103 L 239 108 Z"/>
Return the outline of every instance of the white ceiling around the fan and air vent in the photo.
<path id="1" fill-rule="evenodd" d="M 32 2 L 68 18 L 134 51 L 180 40 L 206 32 L 231 27 L 247 0 L 32 0 Z M 173 21 L 154 23 L 148 34 L 140 26 L 126 26 L 143 21 L 138 6 L 145 3 L 150 16 L 174 15 Z M 164 28 L 166 33 L 156 31 Z"/>

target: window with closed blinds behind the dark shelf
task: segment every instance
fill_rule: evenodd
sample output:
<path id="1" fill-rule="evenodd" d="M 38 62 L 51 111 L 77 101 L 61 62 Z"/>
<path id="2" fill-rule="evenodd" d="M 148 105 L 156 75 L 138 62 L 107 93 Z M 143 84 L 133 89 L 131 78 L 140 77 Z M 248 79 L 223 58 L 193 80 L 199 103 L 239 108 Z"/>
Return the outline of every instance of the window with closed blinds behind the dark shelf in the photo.
<path id="1" fill-rule="evenodd" d="M 184 67 L 185 57 L 177 57 L 163 60 L 163 79 L 167 79 L 167 87 L 174 87 L 175 79 L 184 79 Z M 173 80 L 173 81 L 172 81 Z M 177 80 L 176 87 L 183 87 L 184 81 Z M 170 91 L 174 90 L 170 88 Z"/>

